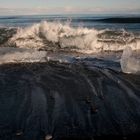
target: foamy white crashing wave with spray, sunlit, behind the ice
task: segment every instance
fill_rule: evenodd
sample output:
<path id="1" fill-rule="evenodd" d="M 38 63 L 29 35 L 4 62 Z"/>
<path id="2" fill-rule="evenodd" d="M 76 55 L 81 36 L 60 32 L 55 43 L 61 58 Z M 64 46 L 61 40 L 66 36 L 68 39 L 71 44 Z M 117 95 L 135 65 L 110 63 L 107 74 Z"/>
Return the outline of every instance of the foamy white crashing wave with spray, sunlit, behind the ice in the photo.
<path id="1" fill-rule="evenodd" d="M 41 22 L 31 27 L 19 28 L 10 39 L 19 48 L 65 50 L 80 53 L 122 51 L 128 44 L 140 49 L 140 37 L 124 30 L 96 30 L 74 28 L 60 22 Z"/>

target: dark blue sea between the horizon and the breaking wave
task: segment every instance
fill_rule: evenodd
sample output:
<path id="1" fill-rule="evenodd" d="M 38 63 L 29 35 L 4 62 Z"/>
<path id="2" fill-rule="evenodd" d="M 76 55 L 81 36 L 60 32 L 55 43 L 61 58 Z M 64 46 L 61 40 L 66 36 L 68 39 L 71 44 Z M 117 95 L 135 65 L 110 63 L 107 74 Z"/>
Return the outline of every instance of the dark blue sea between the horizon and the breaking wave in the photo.
<path id="1" fill-rule="evenodd" d="M 35 15 L 0 16 L 0 26 L 26 27 L 41 21 L 71 21 L 73 26 L 140 31 L 139 15 Z"/>

